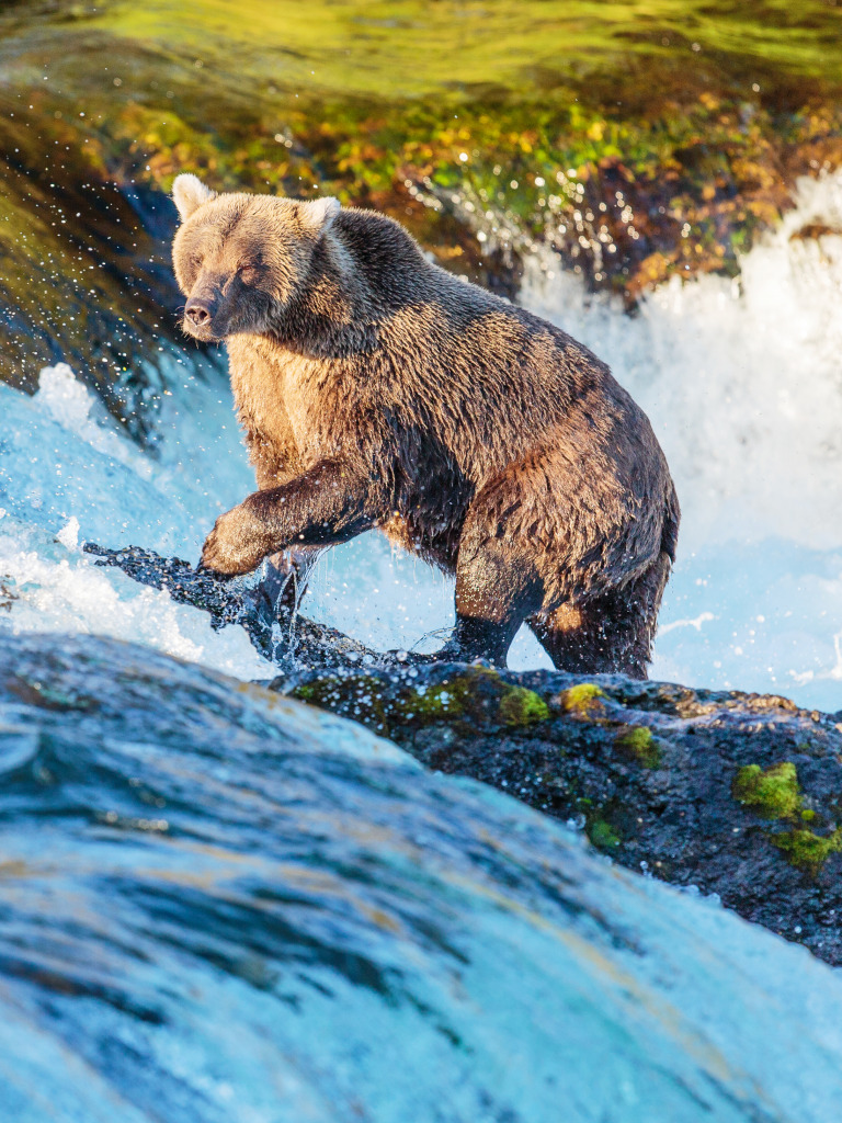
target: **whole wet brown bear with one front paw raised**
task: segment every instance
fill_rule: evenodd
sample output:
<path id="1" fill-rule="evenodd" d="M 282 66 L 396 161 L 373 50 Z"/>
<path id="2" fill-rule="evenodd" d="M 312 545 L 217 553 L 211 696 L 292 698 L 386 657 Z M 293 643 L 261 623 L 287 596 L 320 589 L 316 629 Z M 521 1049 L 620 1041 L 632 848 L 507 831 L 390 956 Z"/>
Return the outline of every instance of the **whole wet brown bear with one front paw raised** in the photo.
<path id="1" fill-rule="evenodd" d="M 646 414 L 586 347 L 431 264 L 392 219 L 180 175 L 184 328 L 228 347 L 259 491 L 202 565 L 376 527 L 456 575 L 438 657 L 647 676 L 679 510 Z"/>

